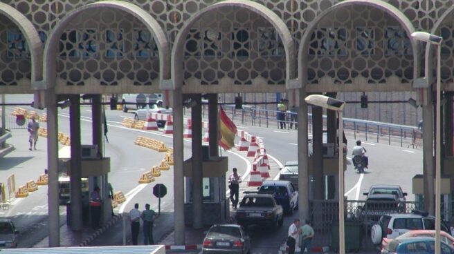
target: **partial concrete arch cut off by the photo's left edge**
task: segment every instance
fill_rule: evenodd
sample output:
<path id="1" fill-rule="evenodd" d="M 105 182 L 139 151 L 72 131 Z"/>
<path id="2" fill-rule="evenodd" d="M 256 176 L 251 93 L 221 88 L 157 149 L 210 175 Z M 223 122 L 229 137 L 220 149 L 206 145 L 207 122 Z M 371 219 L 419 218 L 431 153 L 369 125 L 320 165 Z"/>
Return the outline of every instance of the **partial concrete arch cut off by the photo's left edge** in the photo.
<path id="1" fill-rule="evenodd" d="M 42 80 L 42 42 L 39 39 L 39 35 L 33 23 L 27 19 L 21 12 L 8 6 L 6 3 L 0 3 L 0 14 L 5 15 L 15 23 L 17 28 L 21 30 L 22 35 L 24 35 L 28 48 L 30 49 L 31 57 L 31 79 L 32 83 L 34 81 Z"/>

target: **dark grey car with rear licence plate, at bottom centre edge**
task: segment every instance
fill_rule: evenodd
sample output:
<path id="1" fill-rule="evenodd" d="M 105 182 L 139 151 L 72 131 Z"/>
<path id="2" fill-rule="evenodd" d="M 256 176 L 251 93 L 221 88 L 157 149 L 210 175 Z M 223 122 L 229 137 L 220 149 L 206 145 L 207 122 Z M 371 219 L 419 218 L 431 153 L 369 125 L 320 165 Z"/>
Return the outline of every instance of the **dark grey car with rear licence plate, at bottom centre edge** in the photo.
<path id="1" fill-rule="evenodd" d="M 251 238 L 242 226 L 236 224 L 216 224 L 211 226 L 203 240 L 202 253 L 240 253 L 251 251 Z"/>

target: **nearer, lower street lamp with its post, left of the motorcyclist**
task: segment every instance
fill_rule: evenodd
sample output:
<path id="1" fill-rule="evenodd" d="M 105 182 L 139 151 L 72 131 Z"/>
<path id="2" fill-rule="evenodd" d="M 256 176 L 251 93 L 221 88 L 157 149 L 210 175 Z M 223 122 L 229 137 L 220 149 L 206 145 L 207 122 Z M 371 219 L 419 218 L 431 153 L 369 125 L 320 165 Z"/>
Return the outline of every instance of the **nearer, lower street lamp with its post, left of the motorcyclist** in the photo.
<path id="1" fill-rule="evenodd" d="M 345 106 L 345 101 L 333 99 L 325 95 L 309 95 L 305 98 L 307 104 L 320 106 L 322 108 L 336 110 L 339 117 L 338 124 L 338 157 L 339 157 L 339 253 L 345 253 L 345 236 L 344 236 L 344 155 L 343 155 L 343 121 L 342 110 Z"/>

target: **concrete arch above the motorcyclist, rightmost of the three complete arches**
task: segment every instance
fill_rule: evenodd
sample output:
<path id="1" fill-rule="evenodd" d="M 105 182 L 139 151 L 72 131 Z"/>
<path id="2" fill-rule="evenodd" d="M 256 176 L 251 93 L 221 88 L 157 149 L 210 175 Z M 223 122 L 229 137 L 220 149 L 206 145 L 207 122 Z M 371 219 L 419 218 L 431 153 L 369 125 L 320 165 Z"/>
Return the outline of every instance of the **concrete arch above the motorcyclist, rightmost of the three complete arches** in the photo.
<path id="1" fill-rule="evenodd" d="M 377 8 L 387 14 L 390 14 L 390 16 L 399 21 L 401 26 L 406 30 L 408 37 L 410 38 L 413 52 L 413 62 L 415 63 L 413 66 L 413 79 L 417 77 L 417 73 L 419 73 L 419 64 L 421 57 L 419 56 L 419 47 L 417 47 L 418 42 L 410 36 L 412 32 L 415 32 L 415 27 L 405 16 L 405 14 L 403 14 L 399 9 L 390 5 L 390 3 L 386 3 L 380 0 L 345 0 L 340 3 L 336 3 L 334 6 L 328 8 L 320 15 L 318 15 L 318 17 L 316 17 L 316 19 L 309 24 L 309 27 L 305 31 L 305 34 L 302 36 L 300 48 L 298 49 L 298 64 L 300 65 L 300 67 L 298 68 L 298 79 L 300 81 L 300 85 L 304 87 L 307 84 L 307 52 L 309 50 L 311 34 L 316 26 L 318 26 L 318 23 L 320 23 L 320 21 L 327 17 L 330 12 L 333 12 L 340 8 L 345 8 L 347 6 L 359 5 Z"/>

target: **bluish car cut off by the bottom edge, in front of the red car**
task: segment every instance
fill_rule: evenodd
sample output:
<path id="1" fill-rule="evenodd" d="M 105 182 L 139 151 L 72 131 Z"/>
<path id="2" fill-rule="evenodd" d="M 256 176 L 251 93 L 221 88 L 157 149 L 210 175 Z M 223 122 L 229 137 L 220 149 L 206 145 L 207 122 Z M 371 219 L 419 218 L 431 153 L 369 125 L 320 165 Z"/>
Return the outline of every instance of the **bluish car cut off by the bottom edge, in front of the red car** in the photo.
<path id="1" fill-rule="evenodd" d="M 454 248 L 442 242 L 442 254 L 453 254 Z M 434 237 L 410 237 L 394 239 L 386 246 L 382 252 L 385 254 L 400 254 L 400 253 L 435 253 L 435 238 Z"/>

